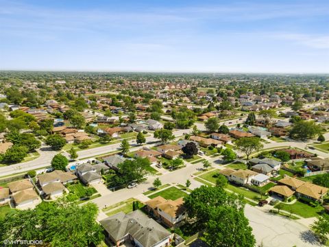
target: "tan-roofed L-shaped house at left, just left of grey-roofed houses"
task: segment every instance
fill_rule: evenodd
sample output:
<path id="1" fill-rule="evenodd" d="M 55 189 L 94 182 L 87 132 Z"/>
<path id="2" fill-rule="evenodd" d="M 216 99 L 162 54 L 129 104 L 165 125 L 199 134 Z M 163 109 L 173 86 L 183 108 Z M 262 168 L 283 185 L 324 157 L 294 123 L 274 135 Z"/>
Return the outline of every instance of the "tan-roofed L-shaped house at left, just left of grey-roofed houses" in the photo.
<path id="1" fill-rule="evenodd" d="M 58 198 L 66 191 L 64 184 L 71 183 L 77 179 L 77 176 L 71 172 L 55 170 L 53 172 L 38 176 L 38 184 L 42 191 L 49 198 Z"/>

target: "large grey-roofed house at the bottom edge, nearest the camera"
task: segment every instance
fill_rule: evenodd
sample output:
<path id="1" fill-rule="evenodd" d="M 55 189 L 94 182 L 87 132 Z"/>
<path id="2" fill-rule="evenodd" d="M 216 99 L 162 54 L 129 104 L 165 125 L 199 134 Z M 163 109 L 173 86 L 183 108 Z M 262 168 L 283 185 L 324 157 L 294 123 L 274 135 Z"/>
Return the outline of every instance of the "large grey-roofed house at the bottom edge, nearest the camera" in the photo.
<path id="1" fill-rule="evenodd" d="M 164 247 L 170 245 L 173 237 L 166 228 L 139 210 L 127 214 L 121 211 L 99 223 L 106 231 L 106 238 L 115 246 L 126 243 L 138 247 Z"/>

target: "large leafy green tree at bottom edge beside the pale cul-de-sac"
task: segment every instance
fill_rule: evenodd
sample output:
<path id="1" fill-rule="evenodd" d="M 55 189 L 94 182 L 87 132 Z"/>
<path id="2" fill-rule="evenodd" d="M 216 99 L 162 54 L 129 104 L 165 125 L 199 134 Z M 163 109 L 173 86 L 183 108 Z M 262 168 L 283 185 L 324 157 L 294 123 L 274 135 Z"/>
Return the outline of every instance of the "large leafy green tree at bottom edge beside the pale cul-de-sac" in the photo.
<path id="1" fill-rule="evenodd" d="M 254 247 L 256 240 L 243 211 L 232 207 L 212 209 L 204 240 L 208 246 Z"/>

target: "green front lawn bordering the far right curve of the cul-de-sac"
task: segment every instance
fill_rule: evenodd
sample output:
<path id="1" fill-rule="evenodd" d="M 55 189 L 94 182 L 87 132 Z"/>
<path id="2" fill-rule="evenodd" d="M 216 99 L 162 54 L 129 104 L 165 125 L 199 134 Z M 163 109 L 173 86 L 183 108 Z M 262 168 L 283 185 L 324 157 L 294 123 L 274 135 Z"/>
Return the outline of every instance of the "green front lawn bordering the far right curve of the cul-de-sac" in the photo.
<path id="1" fill-rule="evenodd" d="M 324 208 L 321 206 L 311 207 L 310 205 L 297 201 L 294 204 L 284 204 L 280 203 L 281 209 L 287 212 L 295 213 L 302 217 L 317 217 L 321 211 L 324 211 Z M 276 208 L 278 205 L 276 205 Z"/>

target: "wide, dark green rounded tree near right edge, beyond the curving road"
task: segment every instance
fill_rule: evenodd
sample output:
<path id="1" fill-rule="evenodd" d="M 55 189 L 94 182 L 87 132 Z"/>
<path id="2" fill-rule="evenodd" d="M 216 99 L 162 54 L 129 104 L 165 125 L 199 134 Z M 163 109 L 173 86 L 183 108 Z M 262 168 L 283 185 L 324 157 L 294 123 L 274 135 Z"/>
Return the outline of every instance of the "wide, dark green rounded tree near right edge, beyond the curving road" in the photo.
<path id="1" fill-rule="evenodd" d="M 289 130 L 289 137 L 305 141 L 321 133 L 321 128 L 314 121 L 297 121 Z"/>

